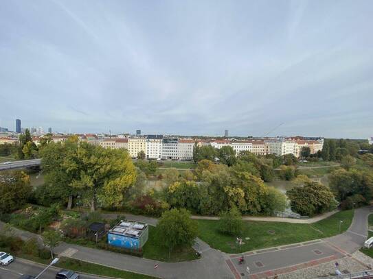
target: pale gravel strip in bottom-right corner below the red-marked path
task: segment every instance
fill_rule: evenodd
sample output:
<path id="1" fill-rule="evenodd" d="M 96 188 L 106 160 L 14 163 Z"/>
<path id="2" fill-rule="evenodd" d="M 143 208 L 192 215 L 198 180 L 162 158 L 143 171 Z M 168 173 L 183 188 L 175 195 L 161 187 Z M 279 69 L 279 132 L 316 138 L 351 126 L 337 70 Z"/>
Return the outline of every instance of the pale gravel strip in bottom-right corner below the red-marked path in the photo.
<path id="1" fill-rule="evenodd" d="M 361 253 L 362 254 L 362 253 Z M 365 256 L 365 255 L 364 255 Z M 333 260 L 330 263 L 324 263 L 315 267 L 299 269 L 289 274 L 279 274 L 279 279 L 310 279 L 323 278 L 335 275 L 335 262 L 339 263 L 339 271 L 342 273 L 353 273 L 366 270 L 367 267 L 350 257 Z M 273 277 L 272 277 L 273 278 Z"/>

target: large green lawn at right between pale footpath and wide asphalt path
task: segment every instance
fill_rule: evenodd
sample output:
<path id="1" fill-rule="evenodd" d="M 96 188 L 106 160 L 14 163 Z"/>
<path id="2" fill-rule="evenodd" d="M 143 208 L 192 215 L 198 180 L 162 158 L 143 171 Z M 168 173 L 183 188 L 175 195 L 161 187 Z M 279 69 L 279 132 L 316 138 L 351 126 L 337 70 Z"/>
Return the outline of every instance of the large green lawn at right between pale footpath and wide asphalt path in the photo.
<path id="1" fill-rule="evenodd" d="M 339 221 L 343 221 L 341 232 L 344 232 L 350 227 L 353 215 L 353 210 L 341 211 L 327 219 L 312 224 L 245 221 L 245 228 L 240 236 L 245 242 L 242 247 L 237 247 L 236 236 L 218 232 L 218 221 L 197 221 L 199 223 L 200 239 L 207 242 L 211 247 L 223 252 L 240 253 L 339 234 Z M 246 237 L 250 239 L 246 240 Z"/>

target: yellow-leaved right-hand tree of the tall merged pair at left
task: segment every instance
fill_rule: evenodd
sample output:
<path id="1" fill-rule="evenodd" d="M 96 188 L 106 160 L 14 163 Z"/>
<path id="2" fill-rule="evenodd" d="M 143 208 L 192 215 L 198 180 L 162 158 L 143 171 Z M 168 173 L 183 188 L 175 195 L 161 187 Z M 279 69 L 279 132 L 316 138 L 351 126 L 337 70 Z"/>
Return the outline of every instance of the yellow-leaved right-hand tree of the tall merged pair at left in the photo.
<path id="1" fill-rule="evenodd" d="M 105 149 L 83 142 L 76 154 L 66 158 L 65 165 L 67 171 L 79 173 L 70 185 L 82 191 L 91 211 L 97 202 L 101 206 L 120 206 L 136 179 L 135 167 L 124 149 Z"/>

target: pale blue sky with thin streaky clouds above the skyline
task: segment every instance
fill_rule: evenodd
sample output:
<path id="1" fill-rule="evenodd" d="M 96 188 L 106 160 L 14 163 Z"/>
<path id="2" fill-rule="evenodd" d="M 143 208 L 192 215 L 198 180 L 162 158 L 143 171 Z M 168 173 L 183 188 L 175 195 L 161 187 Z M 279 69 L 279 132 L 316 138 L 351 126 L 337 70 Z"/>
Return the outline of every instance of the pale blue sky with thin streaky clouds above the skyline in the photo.
<path id="1" fill-rule="evenodd" d="M 0 126 L 373 136 L 373 1 L 12 0 Z"/>

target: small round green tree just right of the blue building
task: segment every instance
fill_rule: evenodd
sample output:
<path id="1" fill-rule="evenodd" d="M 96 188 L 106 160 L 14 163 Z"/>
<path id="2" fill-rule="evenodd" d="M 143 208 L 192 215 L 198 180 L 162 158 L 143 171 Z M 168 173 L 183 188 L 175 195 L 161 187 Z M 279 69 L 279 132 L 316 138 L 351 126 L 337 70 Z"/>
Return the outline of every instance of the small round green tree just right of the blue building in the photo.
<path id="1" fill-rule="evenodd" d="M 196 221 L 190 219 L 190 213 L 184 208 L 166 211 L 157 224 L 159 241 L 168 247 L 169 258 L 172 250 L 192 245 L 197 232 Z"/>

